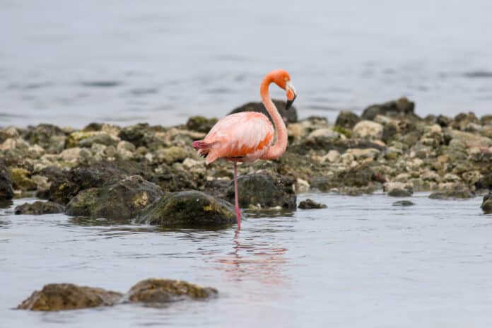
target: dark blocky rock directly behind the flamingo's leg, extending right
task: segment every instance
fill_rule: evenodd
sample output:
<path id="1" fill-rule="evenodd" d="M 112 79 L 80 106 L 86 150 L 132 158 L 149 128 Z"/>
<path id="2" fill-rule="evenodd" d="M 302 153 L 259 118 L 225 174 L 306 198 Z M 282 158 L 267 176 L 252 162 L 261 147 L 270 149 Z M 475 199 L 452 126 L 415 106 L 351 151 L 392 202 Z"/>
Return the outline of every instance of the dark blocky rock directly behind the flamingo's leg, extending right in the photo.
<path id="1" fill-rule="evenodd" d="M 295 180 L 291 177 L 279 176 L 274 179 L 270 175 L 251 174 L 238 177 L 239 206 L 250 205 L 259 208 L 281 206 L 284 209 L 295 209 L 296 197 L 293 191 Z M 234 202 L 234 183 L 230 182 L 226 199 Z"/>

